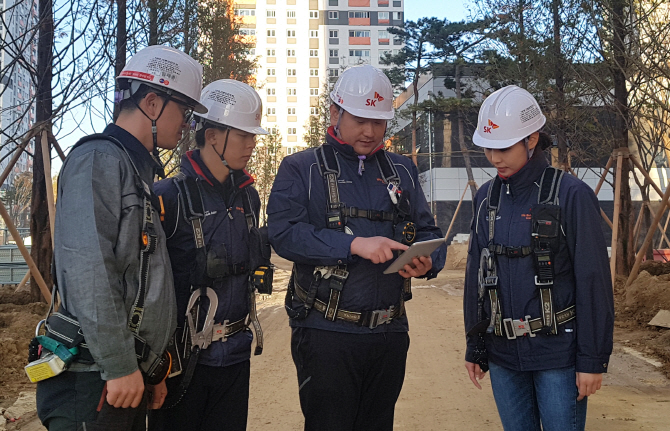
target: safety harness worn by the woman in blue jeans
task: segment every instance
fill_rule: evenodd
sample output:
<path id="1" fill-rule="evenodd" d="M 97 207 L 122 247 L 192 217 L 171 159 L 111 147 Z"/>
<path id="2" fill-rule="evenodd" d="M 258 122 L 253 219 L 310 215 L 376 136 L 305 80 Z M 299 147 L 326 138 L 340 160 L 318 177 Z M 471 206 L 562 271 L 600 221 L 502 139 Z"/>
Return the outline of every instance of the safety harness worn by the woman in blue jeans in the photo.
<path id="1" fill-rule="evenodd" d="M 488 292 L 491 303 L 491 316 L 486 329 L 487 333 L 503 336 L 508 339 L 530 335 L 535 337 L 538 332 L 557 334 L 557 325 L 562 325 L 575 318 L 575 306 L 554 312 L 552 288 L 554 285 L 554 253 L 561 241 L 561 207 L 558 192 L 564 171 L 548 166 L 540 179 L 537 204 L 532 209 L 532 244 L 526 247 L 508 247 L 494 243 L 495 220 L 500 206 L 502 180 L 496 176 L 489 187 L 487 210 L 489 220 L 489 245 L 482 250 L 480 262 L 480 298 L 482 291 Z M 523 258 L 533 256 L 535 264 L 535 285 L 539 289 L 542 303 L 541 317 L 523 319 L 502 318 L 500 306 L 499 280 L 497 276 L 496 256 Z"/>

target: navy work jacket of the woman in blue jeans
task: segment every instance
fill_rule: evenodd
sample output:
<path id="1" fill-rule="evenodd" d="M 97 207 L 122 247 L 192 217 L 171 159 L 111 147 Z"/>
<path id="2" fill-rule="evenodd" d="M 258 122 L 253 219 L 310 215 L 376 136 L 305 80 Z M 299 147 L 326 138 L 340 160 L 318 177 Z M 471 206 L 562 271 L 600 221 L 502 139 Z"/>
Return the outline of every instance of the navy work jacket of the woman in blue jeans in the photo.
<path id="1" fill-rule="evenodd" d="M 540 178 L 547 167 L 542 153 L 503 179 L 495 220 L 494 243 L 530 246 L 533 206 L 537 205 Z M 465 329 L 477 323 L 477 272 L 481 250 L 489 243 L 487 192 L 493 181 L 475 195 L 463 298 Z M 576 319 L 558 326 L 558 335 L 537 334 L 508 340 L 485 335 L 488 358 L 496 365 L 517 371 L 537 371 L 576 366 L 577 372 L 604 373 L 612 353 L 614 301 L 607 246 L 601 229 L 598 199 L 593 190 L 573 175 L 565 174 L 559 189 L 562 238 L 554 254 L 554 311 L 576 305 Z M 535 285 L 534 257 L 497 256 L 502 317 L 541 317 L 540 290 Z M 485 315 L 490 301 L 485 297 Z M 525 319 L 524 319 L 525 320 Z M 466 361 L 475 362 L 476 336 L 467 336 Z"/>

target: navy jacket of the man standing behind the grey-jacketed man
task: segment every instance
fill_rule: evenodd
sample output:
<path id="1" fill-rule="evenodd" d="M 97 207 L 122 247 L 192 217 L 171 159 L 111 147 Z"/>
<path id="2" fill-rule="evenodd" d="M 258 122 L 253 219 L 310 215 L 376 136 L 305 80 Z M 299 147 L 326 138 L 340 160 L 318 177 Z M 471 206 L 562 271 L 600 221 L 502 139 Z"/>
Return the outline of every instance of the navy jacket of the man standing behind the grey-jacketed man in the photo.
<path id="1" fill-rule="evenodd" d="M 258 214 L 260 199 L 256 189 L 251 186 L 253 179 L 244 171 L 232 171 L 221 184 L 205 166 L 199 150 L 189 151 L 182 156 L 181 172 L 194 178 L 199 186 L 205 210 L 202 230 L 207 250 L 215 250 L 219 257 L 225 255 L 230 265 L 248 264 L 249 231 L 243 200 L 248 199 L 248 194 L 251 209 L 254 214 Z M 155 184 L 155 190 L 162 197 L 165 207 L 163 226 L 174 274 L 178 324 L 183 327 L 186 306 L 191 296 L 196 247 L 193 228 L 184 216 L 184 200 L 179 196 L 174 181 L 172 178 L 159 181 Z M 215 279 L 211 287 L 219 300 L 214 323 L 221 324 L 224 320 L 233 323 L 249 314 L 248 274 Z M 245 330 L 229 337 L 226 342 L 215 341 L 200 353 L 198 362 L 226 367 L 246 361 L 251 356 L 252 339 L 251 331 Z"/>

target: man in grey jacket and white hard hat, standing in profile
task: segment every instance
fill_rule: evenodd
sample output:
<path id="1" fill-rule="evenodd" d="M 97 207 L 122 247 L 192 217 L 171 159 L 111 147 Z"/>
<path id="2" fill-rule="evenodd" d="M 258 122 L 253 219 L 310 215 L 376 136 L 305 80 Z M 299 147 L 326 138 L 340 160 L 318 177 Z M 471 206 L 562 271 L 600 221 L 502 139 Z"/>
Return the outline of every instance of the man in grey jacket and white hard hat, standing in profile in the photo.
<path id="1" fill-rule="evenodd" d="M 46 329 L 78 354 L 38 383 L 38 414 L 49 430 L 143 430 L 147 406 L 160 407 L 166 395 L 176 306 L 152 185 L 162 172 L 158 148 L 177 145 L 191 110 L 206 112 L 202 66 L 150 46 L 117 80 L 118 120 L 79 141 L 59 176 L 54 263 L 62 303 Z"/>

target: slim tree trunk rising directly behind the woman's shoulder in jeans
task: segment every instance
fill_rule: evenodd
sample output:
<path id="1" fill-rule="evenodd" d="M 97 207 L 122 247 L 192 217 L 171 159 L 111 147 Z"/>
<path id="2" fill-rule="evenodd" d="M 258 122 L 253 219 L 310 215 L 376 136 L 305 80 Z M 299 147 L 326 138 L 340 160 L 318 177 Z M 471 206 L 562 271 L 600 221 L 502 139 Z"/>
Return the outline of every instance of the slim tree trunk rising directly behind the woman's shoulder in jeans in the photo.
<path id="1" fill-rule="evenodd" d="M 556 138 L 558 140 L 558 165 L 567 170 L 568 143 L 563 130 L 565 125 L 565 80 L 563 76 L 563 53 L 561 51 L 561 16 L 559 7 L 561 0 L 552 0 L 551 11 L 554 20 L 554 79 L 556 80 L 555 113 L 556 113 Z"/>

